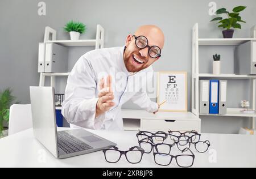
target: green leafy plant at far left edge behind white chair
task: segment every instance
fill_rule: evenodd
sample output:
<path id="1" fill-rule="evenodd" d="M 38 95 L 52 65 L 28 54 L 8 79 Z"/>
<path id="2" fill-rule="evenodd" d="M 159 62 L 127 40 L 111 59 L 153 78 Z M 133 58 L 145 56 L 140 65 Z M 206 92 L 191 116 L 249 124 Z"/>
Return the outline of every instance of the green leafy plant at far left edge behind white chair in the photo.
<path id="1" fill-rule="evenodd" d="M 15 97 L 11 95 L 10 88 L 0 91 L 0 137 L 7 135 L 5 124 L 9 122 L 10 106 L 14 103 Z"/>

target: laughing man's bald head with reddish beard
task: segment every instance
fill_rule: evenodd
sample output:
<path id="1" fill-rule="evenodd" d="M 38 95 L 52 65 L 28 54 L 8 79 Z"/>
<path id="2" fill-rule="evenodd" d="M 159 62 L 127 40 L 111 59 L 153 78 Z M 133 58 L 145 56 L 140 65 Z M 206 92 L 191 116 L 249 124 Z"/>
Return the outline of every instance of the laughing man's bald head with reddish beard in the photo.
<path id="1" fill-rule="evenodd" d="M 151 66 L 160 58 L 160 55 L 154 58 L 148 53 L 151 46 L 158 46 L 160 50 L 163 49 L 164 34 L 156 25 L 142 25 L 133 35 L 129 34 L 126 38 L 123 60 L 128 71 L 138 72 Z M 135 39 L 139 36 L 144 36 L 147 39 L 147 46 L 144 48 L 138 48 L 136 45 Z"/>

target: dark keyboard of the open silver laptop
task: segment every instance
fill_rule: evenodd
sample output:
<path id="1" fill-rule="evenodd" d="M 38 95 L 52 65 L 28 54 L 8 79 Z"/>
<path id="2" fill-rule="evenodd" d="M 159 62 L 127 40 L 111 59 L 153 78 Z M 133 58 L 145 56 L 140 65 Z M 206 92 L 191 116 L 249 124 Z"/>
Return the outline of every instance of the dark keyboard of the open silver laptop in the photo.
<path id="1" fill-rule="evenodd" d="M 59 131 L 57 136 L 58 147 L 61 148 L 66 154 L 85 151 L 93 148 L 65 131 Z"/>

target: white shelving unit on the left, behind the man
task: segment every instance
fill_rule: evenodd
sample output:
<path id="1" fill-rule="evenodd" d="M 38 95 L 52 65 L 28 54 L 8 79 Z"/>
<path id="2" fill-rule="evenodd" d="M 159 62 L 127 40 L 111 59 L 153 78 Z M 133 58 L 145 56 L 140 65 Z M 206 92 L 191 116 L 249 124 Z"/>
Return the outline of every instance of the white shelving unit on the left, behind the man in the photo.
<path id="1" fill-rule="evenodd" d="M 98 24 L 97 25 L 97 32 L 96 32 L 96 39 L 90 39 L 90 40 L 56 40 L 56 31 L 52 29 L 53 32 L 55 32 L 54 35 L 52 35 L 52 40 L 49 40 L 49 32 L 46 31 L 45 37 L 44 37 L 44 43 L 55 43 L 58 45 L 63 46 L 95 46 L 95 49 L 104 48 L 104 28 Z M 57 76 L 59 77 L 68 77 L 69 73 L 40 73 L 40 82 L 39 86 L 45 85 L 46 76 L 51 77 L 51 86 L 55 87 L 55 78 Z"/>

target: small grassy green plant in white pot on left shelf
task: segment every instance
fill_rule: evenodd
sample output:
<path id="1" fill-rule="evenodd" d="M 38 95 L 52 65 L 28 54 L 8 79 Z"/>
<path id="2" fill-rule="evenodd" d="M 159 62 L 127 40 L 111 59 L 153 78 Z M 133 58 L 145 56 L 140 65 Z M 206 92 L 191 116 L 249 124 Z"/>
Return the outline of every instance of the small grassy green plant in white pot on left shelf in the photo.
<path id="1" fill-rule="evenodd" d="M 64 30 L 69 32 L 71 40 L 79 40 L 80 34 L 85 33 L 86 25 L 71 20 L 65 25 Z"/>

